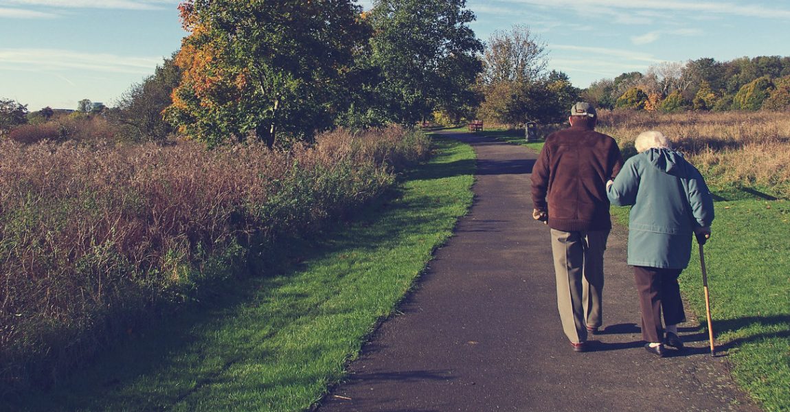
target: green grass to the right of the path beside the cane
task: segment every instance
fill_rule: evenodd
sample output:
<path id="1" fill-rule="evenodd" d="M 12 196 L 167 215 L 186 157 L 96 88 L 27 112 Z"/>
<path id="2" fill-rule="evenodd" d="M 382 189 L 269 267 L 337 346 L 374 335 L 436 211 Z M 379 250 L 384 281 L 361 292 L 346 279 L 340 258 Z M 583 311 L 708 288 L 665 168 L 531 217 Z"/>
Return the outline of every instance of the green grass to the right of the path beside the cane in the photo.
<path id="1" fill-rule="evenodd" d="M 790 410 L 790 202 L 762 200 L 754 191 L 717 192 L 713 238 L 705 264 L 718 350 L 732 376 L 766 411 Z M 751 199 L 749 198 L 751 197 Z M 627 225 L 628 209 L 612 208 Z M 693 242 L 696 244 L 696 242 Z M 694 245 L 681 289 L 705 331 L 705 298 Z"/>

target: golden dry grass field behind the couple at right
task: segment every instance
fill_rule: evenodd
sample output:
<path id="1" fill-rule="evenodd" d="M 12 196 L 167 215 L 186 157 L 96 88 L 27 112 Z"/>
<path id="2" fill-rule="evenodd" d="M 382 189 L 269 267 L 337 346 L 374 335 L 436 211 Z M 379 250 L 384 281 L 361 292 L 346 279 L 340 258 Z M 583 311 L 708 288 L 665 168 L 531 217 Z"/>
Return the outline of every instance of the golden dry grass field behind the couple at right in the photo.
<path id="1" fill-rule="evenodd" d="M 659 130 L 712 187 L 752 188 L 790 199 L 790 113 L 601 110 L 598 129 L 615 137 L 625 155 L 634 153 L 639 133 Z"/>

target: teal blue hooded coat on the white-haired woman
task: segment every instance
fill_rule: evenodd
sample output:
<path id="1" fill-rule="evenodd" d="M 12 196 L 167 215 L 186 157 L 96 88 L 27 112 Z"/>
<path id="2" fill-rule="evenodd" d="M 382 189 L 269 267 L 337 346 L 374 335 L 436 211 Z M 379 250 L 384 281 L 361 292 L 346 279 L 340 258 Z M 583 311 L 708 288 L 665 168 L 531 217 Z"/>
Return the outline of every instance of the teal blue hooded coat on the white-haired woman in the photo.
<path id="1" fill-rule="evenodd" d="M 615 206 L 633 206 L 628 264 L 634 266 L 686 268 L 694 228 L 713 222 L 702 174 L 671 149 L 651 148 L 626 160 L 607 195 Z"/>

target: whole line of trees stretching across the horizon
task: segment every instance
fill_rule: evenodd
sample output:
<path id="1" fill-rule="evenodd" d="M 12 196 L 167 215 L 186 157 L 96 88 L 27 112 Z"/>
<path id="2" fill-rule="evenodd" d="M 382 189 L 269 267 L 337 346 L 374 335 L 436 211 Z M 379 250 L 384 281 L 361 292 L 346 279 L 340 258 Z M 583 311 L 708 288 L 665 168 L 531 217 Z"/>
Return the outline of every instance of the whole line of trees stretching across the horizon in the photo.
<path id="1" fill-rule="evenodd" d="M 548 69 L 528 26 L 477 39 L 465 0 L 375 0 L 367 11 L 352 0 L 186 0 L 179 10 L 182 47 L 115 107 L 82 100 L 76 120 L 18 140 L 86 134 L 77 129 L 93 114 L 124 140 L 273 146 L 338 126 L 562 122 L 577 99 L 664 112 L 790 107 L 790 57 L 779 56 L 664 62 L 582 90 Z M 0 99 L 0 133 L 52 118 Z"/>

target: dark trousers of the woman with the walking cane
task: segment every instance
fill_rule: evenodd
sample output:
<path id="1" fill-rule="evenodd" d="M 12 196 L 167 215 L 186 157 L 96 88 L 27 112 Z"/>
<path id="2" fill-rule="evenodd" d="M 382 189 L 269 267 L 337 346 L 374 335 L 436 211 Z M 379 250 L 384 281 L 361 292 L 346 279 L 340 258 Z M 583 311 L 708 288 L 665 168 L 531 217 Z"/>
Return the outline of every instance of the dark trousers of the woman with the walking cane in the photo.
<path id="1" fill-rule="evenodd" d="M 634 280 L 639 294 L 641 309 L 642 339 L 647 342 L 662 342 L 665 324 L 679 324 L 686 320 L 683 301 L 680 298 L 678 277 L 683 269 L 662 269 L 634 266 Z"/>

